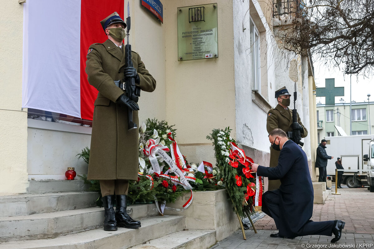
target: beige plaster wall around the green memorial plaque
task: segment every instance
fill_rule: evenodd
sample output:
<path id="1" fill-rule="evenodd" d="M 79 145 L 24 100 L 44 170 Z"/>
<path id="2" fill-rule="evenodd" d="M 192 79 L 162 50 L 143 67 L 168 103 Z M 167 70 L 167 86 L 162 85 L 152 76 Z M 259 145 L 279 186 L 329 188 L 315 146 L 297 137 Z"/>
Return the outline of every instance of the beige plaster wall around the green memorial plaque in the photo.
<path id="1" fill-rule="evenodd" d="M 202 0 L 167 1 L 164 4 L 166 49 L 166 118 L 177 128 L 176 140 L 189 161 L 213 158 L 206 136 L 214 128 L 233 129 L 235 89 L 232 2 L 217 0 L 218 58 L 178 62 L 177 8 L 207 4 Z M 199 155 L 200 146 L 206 153 Z M 188 150 L 184 153 L 182 147 Z M 203 158 L 202 158 L 203 157 Z M 215 161 L 211 161 L 214 163 Z"/>

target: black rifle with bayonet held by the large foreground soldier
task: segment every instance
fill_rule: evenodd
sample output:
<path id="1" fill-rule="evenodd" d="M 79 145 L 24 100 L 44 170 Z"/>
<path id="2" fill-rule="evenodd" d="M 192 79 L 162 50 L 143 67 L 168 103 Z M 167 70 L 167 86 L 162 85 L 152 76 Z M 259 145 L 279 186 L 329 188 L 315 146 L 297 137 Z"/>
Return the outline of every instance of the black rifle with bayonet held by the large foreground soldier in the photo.
<path id="1" fill-rule="evenodd" d="M 125 66 L 124 68 L 127 68 L 129 66 L 133 66 L 132 64 L 132 56 L 131 56 L 131 45 L 129 44 L 129 31 L 130 31 L 130 25 L 131 25 L 131 21 L 130 21 L 130 10 L 129 10 L 129 3 L 128 3 L 128 6 L 127 6 L 127 12 L 128 12 L 128 18 L 126 18 L 126 27 L 127 27 L 127 44 L 125 45 L 125 50 L 124 50 L 124 53 L 126 55 L 126 63 L 125 63 Z M 122 68 L 120 69 L 122 70 Z M 134 102 L 138 102 L 139 100 L 139 97 L 140 97 L 140 87 L 138 87 L 137 85 L 135 85 L 135 78 L 134 77 L 131 77 L 131 78 L 123 78 L 120 83 L 122 84 L 119 84 L 118 81 L 114 81 L 116 84 L 118 84 L 118 86 L 122 86 L 122 89 L 126 91 L 126 95 L 129 99 L 131 99 L 132 101 Z M 136 129 L 138 128 L 137 127 L 137 124 L 134 123 L 134 121 L 132 121 L 132 110 L 130 108 L 127 108 L 127 118 L 128 118 L 128 130 L 132 130 L 132 129 Z"/>

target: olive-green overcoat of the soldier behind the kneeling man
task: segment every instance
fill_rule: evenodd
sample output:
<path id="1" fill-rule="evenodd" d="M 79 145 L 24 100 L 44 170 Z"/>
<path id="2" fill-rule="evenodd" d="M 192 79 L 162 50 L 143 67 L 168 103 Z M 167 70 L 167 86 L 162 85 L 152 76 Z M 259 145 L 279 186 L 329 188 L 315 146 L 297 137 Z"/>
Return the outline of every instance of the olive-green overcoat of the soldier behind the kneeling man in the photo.
<path id="1" fill-rule="evenodd" d="M 297 122 L 303 127 L 303 133 L 301 133 L 301 137 L 306 137 L 308 135 L 307 129 L 304 127 L 303 123 L 301 123 L 299 113 L 297 113 Z M 267 113 L 267 120 L 266 120 L 266 130 L 268 133 L 274 130 L 275 128 L 282 129 L 286 134 L 287 131 L 291 131 L 291 124 L 292 124 L 292 110 L 291 109 L 284 109 L 281 105 L 277 105 L 275 108 L 270 109 Z M 270 146 L 270 167 L 276 167 L 278 165 L 278 158 L 281 152 L 273 149 Z M 268 190 L 275 190 L 279 189 L 281 186 L 280 180 L 269 180 Z"/>

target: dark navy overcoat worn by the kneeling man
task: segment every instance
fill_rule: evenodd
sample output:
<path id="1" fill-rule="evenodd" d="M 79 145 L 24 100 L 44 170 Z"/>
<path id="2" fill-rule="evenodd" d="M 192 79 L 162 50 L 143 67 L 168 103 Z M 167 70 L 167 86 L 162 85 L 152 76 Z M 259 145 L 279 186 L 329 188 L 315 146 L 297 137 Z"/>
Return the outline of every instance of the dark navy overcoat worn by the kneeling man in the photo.
<path id="1" fill-rule="evenodd" d="M 288 140 L 283 144 L 275 168 L 258 166 L 257 174 L 280 179 L 279 235 L 297 237 L 313 214 L 313 185 L 305 152 Z"/>

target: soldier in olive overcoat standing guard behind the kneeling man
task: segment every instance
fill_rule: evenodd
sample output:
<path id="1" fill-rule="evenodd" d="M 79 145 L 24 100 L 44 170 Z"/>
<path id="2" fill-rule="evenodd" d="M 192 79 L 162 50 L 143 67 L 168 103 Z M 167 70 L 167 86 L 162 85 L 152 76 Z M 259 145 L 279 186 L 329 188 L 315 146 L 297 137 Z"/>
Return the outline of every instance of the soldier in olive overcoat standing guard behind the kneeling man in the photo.
<path id="1" fill-rule="evenodd" d="M 278 101 L 278 105 L 275 108 L 270 109 L 267 113 L 266 130 L 268 133 L 275 128 L 282 129 L 286 134 L 288 131 L 300 130 L 301 137 L 308 135 L 307 129 L 304 127 L 300 120 L 300 116 L 297 113 L 297 122 L 292 123 L 292 110 L 288 108 L 290 104 L 291 94 L 288 93 L 286 87 L 275 91 L 275 97 Z M 280 151 L 270 147 L 270 167 L 276 167 L 278 164 Z M 279 189 L 281 186 L 280 180 L 269 180 L 268 190 Z"/>

